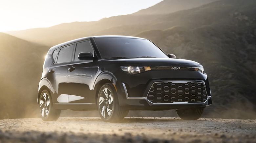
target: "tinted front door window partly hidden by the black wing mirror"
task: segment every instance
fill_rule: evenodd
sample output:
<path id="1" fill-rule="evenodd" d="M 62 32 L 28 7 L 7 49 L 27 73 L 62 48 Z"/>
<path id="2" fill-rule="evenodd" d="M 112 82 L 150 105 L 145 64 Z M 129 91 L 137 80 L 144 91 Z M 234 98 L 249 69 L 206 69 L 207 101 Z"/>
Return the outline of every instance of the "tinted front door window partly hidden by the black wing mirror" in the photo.
<path id="1" fill-rule="evenodd" d="M 78 55 L 81 52 L 91 52 L 94 56 L 94 51 L 93 48 L 91 46 L 90 41 L 84 41 L 84 42 L 80 42 L 76 44 L 76 48 L 75 48 L 75 61 L 78 61 Z"/>

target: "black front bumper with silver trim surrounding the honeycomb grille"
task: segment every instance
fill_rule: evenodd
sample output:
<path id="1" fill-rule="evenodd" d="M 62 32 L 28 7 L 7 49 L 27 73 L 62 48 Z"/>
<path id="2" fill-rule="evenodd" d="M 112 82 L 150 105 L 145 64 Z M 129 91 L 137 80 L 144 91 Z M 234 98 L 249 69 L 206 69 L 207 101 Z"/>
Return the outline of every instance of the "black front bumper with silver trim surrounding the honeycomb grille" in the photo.
<path id="1" fill-rule="evenodd" d="M 118 81 L 118 100 L 119 105 L 128 110 L 175 110 L 182 108 L 191 108 L 191 107 L 206 107 L 212 104 L 211 100 L 211 92 L 209 87 L 209 82 L 207 79 L 207 75 L 195 72 L 195 71 L 179 71 L 179 74 L 175 74 L 177 71 L 172 71 L 173 74 L 170 74 L 170 71 L 161 71 L 160 74 L 156 74 L 153 72 L 148 72 L 147 75 L 139 75 L 136 78 L 129 78 L 129 75 L 126 75 L 128 78 L 123 78 L 123 81 Z M 182 73 L 181 73 L 182 72 Z M 122 74 L 122 73 L 121 73 Z M 127 73 L 124 73 L 127 74 Z M 134 76 L 134 75 L 131 75 Z M 153 77 L 151 79 L 146 79 L 144 77 Z M 118 77 L 118 76 L 117 76 Z M 118 79 L 118 78 L 117 78 Z M 134 81 L 131 81 L 133 79 Z M 194 83 L 202 83 L 206 95 L 202 95 L 202 99 L 199 103 L 191 102 L 191 101 L 174 101 L 168 103 L 157 103 L 152 102 L 148 98 L 149 91 L 154 83 L 164 83 L 164 82 L 176 82 L 176 83 L 186 83 L 186 82 L 194 82 Z M 143 84 L 144 83 L 144 84 Z M 202 92 L 203 93 L 203 92 Z M 163 94 L 163 93 L 161 93 Z M 169 93 L 171 96 L 171 93 Z M 163 95 L 162 95 L 163 97 Z M 184 97 L 183 97 L 184 98 Z M 189 97 L 190 98 L 190 97 Z M 169 97 L 171 99 L 171 97 Z M 162 100 L 163 101 L 163 100 Z"/>

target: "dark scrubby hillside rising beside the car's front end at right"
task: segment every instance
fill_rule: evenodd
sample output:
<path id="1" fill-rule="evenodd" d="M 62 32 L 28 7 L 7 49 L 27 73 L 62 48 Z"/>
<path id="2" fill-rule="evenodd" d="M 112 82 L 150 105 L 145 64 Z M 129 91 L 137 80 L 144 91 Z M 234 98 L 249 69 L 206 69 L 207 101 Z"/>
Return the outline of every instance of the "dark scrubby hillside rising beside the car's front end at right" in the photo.
<path id="1" fill-rule="evenodd" d="M 209 107 L 213 114 L 207 117 L 256 118 L 255 6 L 249 0 L 212 3 L 182 11 L 190 15 L 175 21 L 181 26 L 137 36 L 156 41 L 178 58 L 195 60 L 204 66 L 213 95 L 213 106 Z M 182 13 L 172 13 L 163 19 L 186 15 Z"/>

